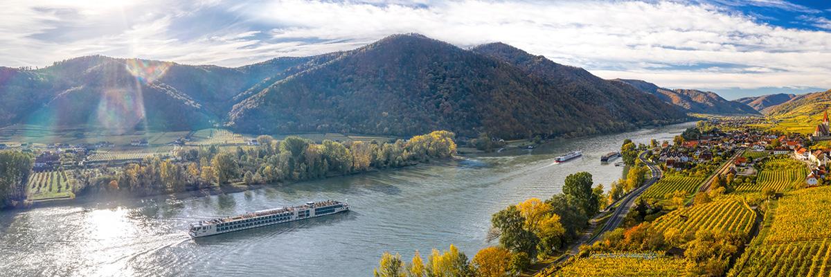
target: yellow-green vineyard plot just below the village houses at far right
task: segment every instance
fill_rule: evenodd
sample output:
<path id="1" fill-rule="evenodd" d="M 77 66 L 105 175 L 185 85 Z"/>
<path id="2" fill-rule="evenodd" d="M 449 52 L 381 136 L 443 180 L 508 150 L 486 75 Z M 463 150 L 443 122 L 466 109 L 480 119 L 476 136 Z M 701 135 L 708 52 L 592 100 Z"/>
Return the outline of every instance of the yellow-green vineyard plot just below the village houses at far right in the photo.
<path id="1" fill-rule="evenodd" d="M 773 188 L 776 191 L 793 190 L 804 184 L 808 168 L 800 161 L 789 158 L 769 159 L 762 166 L 755 183 L 745 183 L 736 187 L 739 193 L 762 191 Z"/>

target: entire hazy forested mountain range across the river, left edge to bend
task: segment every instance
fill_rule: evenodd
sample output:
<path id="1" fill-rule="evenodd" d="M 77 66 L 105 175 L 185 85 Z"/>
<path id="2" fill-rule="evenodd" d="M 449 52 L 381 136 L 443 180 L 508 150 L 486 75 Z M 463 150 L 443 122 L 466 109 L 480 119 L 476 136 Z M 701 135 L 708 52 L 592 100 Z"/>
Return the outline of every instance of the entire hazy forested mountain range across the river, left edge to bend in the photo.
<path id="1" fill-rule="evenodd" d="M 635 92 L 501 43 L 465 50 L 408 34 L 235 68 L 103 56 L 35 70 L 0 67 L 0 126 L 226 125 L 253 133 L 396 136 L 445 129 L 514 138 L 686 120 L 675 106 Z"/>

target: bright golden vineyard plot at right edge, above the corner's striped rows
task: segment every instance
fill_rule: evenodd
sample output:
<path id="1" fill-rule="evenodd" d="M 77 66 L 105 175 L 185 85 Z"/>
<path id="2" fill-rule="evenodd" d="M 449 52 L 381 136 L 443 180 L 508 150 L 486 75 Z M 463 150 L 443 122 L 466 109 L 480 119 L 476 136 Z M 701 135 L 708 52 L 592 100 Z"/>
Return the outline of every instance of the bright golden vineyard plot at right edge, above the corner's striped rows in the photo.
<path id="1" fill-rule="evenodd" d="M 831 186 L 798 190 L 779 200 L 769 243 L 831 238 Z"/>

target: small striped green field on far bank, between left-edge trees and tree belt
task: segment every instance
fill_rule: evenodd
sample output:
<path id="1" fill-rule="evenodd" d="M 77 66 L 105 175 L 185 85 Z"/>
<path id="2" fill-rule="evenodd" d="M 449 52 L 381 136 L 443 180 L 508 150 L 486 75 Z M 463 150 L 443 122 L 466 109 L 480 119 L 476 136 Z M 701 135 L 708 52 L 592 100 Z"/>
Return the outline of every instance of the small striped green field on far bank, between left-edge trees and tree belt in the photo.
<path id="1" fill-rule="evenodd" d="M 35 172 L 29 176 L 26 184 L 27 199 L 46 200 L 53 198 L 72 198 L 75 178 L 69 171 Z"/>

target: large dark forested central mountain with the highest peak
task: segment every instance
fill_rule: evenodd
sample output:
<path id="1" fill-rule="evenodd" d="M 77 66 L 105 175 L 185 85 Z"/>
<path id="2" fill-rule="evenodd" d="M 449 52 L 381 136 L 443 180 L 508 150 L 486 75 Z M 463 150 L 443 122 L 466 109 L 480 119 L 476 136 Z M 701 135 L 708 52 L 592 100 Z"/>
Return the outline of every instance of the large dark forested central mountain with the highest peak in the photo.
<path id="1" fill-rule="evenodd" d="M 643 108 L 622 116 L 610 101 L 592 96 L 620 89 L 588 72 L 583 79 L 535 74 L 495 52 L 483 54 L 489 48 L 470 51 L 420 35 L 386 37 L 249 97 L 234 106 L 230 126 L 380 134 L 448 129 L 511 138 L 587 135 L 686 118 L 639 96 Z M 566 80 L 568 86 L 559 87 Z"/>

